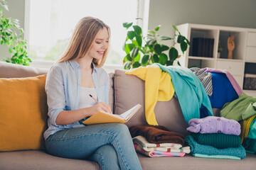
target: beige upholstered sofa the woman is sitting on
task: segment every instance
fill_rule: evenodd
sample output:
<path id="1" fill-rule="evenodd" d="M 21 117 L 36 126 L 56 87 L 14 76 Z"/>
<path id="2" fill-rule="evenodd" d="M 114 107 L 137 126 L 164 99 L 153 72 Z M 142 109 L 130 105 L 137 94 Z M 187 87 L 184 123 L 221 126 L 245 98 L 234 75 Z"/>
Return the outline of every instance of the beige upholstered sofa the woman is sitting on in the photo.
<path id="1" fill-rule="evenodd" d="M 23 67 L 16 64 L 0 62 L 0 78 L 34 77 L 46 74 L 46 69 L 36 69 L 33 67 Z M 119 114 L 131 108 L 137 103 L 142 104 L 142 108 L 127 126 L 146 125 L 144 116 L 144 81 L 124 74 L 124 70 L 117 69 L 110 73 L 110 106 L 113 112 Z M 1 94 L 0 94 L 1 95 Z M 181 108 L 176 99 L 171 101 L 157 102 L 154 109 L 156 120 L 159 125 L 174 132 L 187 135 L 186 124 Z M 1 125 L 0 125 L 1 128 Z M 142 168 L 145 170 L 156 169 L 255 169 L 256 154 L 249 154 L 245 159 L 206 159 L 192 157 L 186 154 L 185 157 L 161 157 L 150 158 L 138 154 Z M 87 160 L 64 159 L 53 157 L 45 150 L 21 150 L 13 152 L 0 152 L 0 169 L 100 169 L 97 163 Z"/>

